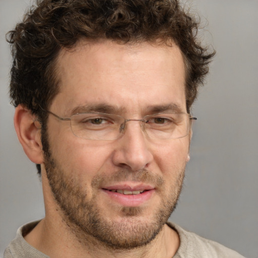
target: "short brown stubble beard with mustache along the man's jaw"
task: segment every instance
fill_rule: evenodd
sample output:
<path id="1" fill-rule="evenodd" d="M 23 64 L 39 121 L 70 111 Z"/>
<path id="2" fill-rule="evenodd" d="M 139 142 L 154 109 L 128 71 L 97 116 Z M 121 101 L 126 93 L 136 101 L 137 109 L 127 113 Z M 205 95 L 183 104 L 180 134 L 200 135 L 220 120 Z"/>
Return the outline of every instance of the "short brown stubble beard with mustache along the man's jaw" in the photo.
<path id="1" fill-rule="evenodd" d="M 94 193 L 87 201 L 87 189 L 85 187 L 83 189 L 80 182 L 72 177 L 73 173 L 68 177 L 61 169 L 61 166 L 52 157 L 47 137 L 44 134 L 42 134 L 42 145 L 46 175 L 53 198 L 61 210 L 62 219 L 82 244 L 88 246 L 90 243 L 101 244 L 116 250 L 145 246 L 158 235 L 176 207 L 183 184 L 185 167 L 180 173 L 177 172 L 179 176 L 168 189 L 169 194 L 165 192 L 166 195 L 161 198 L 162 202 L 157 207 L 153 207 L 155 213 L 151 220 L 143 219 L 144 208 L 122 207 L 118 211 L 122 215 L 121 219 L 114 221 L 112 218 L 105 217 L 97 205 Z M 132 173 L 123 170 L 118 171 L 109 179 L 103 176 L 95 177 L 90 187 L 97 189 L 103 181 L 128 180 L 129 178 L 141 182 L 152 182 L 160 188 L 164 184 L 163 178 L 154 175 L 151 171 L 141 170 Z M 146 217 L 149 217 L 149 214 Z"/>

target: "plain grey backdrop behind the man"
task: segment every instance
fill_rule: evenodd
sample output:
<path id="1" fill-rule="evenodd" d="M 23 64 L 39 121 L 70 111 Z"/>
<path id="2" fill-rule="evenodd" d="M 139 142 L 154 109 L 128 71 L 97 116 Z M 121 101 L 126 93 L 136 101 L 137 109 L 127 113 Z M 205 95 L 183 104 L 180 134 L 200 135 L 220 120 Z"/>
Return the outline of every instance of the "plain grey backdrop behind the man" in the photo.
<path id="1" fill-rule="evenodd" d="M 0 0 L 0 256 L 17 228 L 44 217 L 35 165 L 18 143 L 9 104 L 10 51 L 5 33 L 28 0 Z M 217 50 L 193 107 L 191 160 L 171 220 L 246 257 L 258 257 L 258 1 L 192 0 Z M 207 20 L 206 20 L 207 19 Z"/>

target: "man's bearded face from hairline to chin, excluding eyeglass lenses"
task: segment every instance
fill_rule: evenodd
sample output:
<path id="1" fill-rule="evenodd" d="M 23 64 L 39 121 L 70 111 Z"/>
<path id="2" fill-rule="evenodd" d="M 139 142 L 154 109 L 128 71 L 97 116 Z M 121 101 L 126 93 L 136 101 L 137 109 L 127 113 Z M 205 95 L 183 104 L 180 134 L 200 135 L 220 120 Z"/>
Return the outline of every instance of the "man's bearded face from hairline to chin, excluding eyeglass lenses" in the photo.
<path id="1" fill-rule="evenodd" d="M 186 112 L 176 46 L 82 41 L 62 50 L 56 66 L 60 92 L 49 110 L 59 116 L 89 107 L 133 119 Z M 159 233 L 180 193 L 190 136 L 151 139 L 141 122 L 129 121 L 116 140 L 86 140 L 52 115 L 47 136 L 46 174 L 71 230 L 115 248 L 144 245 Z"/>

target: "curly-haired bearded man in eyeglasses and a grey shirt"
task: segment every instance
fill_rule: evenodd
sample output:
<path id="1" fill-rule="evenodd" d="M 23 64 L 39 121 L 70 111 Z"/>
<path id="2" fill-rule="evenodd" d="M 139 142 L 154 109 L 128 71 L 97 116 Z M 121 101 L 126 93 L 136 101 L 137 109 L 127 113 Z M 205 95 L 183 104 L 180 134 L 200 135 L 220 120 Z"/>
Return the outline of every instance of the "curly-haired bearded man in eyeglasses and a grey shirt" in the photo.
<path id="1" fill-rule="evenodd" d="M 10 93 L 46 216 L 4 257 L 242 257 L 167 223 L 214 52 L 177 1 L 39 1 L 10 32 Z"/>

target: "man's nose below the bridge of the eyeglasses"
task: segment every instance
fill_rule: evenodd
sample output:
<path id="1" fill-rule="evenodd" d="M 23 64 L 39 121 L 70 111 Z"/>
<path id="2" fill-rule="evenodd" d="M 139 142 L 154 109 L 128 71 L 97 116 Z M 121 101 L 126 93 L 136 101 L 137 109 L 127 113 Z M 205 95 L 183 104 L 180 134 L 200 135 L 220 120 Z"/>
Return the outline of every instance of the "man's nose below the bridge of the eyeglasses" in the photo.
<path id="1" fill-rule="evenodd" d="M 139 122 L 140 121 L 140 122 Z M 116 166 L 137 171 L 147 168 L 153 161 L 150 143 L 142 130 L 141 120 L 131 119 L 113 152 L 113 163 Z"/>

